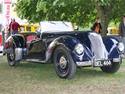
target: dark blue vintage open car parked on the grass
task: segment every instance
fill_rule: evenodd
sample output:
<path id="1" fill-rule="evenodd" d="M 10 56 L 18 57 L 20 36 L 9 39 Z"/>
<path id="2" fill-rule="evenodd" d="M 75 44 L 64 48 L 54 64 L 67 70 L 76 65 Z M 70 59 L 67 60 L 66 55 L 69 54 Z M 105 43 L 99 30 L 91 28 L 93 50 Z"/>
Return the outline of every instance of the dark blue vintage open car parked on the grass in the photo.
<path id="1" fill-rule="evenodd" d="M 74 77 L 77 67 L 100 67 L 106 73 L 120 68 L 124 45 L 118 37 L 72 32 L 68 22 L 41 22 L 41 26 L 37 32 L 12 35 L 6 40 L 4 49 L 10 66 L 22 60 L 54 63 L 57 75 L 67 79 Z M 27 41 L 28 37 L 32 40 Z"/>

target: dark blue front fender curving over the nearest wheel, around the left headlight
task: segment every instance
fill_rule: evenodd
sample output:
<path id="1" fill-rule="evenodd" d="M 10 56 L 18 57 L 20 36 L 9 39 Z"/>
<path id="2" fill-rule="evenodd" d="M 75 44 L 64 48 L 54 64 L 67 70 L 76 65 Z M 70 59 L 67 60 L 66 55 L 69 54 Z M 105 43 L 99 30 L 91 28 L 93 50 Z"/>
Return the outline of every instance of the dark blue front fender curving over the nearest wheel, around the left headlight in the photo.
<path id="1" fill-rule="evenodd" d="M 90 58 L 92 57 L 92 54 L 89 48 L 85 45 L 83 45 L 85 48 L 84 54 L 81 54 L 81 55 L 76 54 L 76 52 L 74 51 L 74 48 L 78 43 L 81 43 L 81 42 L 77 38 L 71 37 L 71 36 L 61 36 L 56 38 L 54 41 L 52 41 L 49 44 L 47 48 L 47 51 L 46 51 L 47 60 L 52 56 L 54 50 L 60 45 L 66 47 L 69 50 L 74 62 L 82 61 L 82 60 L 85 60 L 85 61 L 90 60 Z"/>

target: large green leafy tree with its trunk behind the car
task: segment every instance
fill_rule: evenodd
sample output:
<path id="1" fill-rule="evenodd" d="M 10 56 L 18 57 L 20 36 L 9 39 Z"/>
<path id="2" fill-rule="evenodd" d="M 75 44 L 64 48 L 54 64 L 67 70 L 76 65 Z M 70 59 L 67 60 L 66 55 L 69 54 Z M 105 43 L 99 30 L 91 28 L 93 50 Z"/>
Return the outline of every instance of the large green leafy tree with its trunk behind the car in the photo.
<path id="1" fill-rule="evenodd" d="M 30 22 L 71 21 L 81 26 L 100 17 L 105 35 L 110 21 L 118 21 L 125 10 L 124 0 L 18 0 L 18 16 Z"/>

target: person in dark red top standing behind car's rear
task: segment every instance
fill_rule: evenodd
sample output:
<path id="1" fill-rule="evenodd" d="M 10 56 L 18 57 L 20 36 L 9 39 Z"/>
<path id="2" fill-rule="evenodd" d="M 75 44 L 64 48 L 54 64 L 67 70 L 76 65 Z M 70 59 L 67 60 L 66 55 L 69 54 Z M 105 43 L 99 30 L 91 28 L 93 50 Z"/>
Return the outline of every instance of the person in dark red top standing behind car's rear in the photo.
<path id="1" fill-rule="evenodd" d="M 9 31 L 10 33 L 17 34 L 19 31 L 20 25 L 15 21 L 15 19 L 12 19 L 11 23 L 9 24 Z"/>

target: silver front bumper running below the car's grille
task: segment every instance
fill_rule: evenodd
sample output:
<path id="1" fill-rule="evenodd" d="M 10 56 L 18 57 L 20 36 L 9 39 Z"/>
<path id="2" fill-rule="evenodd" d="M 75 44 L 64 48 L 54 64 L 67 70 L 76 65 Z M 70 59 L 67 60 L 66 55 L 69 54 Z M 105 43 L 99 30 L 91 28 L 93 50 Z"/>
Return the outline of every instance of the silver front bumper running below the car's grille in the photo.
<path id="1" fill-rule="evenodd" d="M 76 62 L 77 66 L 93 66 L 93 67 L 101 67 L 101 66 L 109 66 L 111 65 L 109 61 L 111 60 L 100 60 L 100 61 L 106 61 L 107 64 L 97 64 L 98 60 L 92 60 L 92 61 L 81 61 L 81 62 Z M 121 62 L 121 58 L 113 58 L 112 59 L 113 62 Z M 96 65 L 97 64 L 97 65 Z"/>

